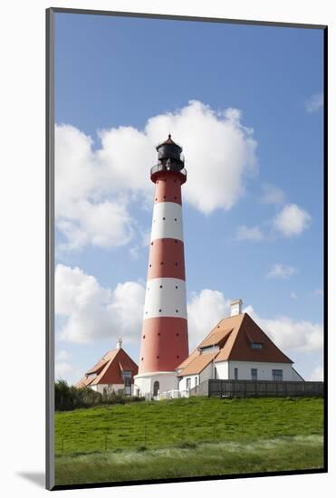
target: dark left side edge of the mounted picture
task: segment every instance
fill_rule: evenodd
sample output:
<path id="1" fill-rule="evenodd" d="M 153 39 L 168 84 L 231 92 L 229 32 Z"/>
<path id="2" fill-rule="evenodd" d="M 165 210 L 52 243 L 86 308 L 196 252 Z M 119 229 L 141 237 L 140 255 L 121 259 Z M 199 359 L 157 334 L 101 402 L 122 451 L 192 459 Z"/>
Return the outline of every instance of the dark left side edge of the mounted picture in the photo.
<path id="1" fill-rule="evenodd" d="M 53 281 L 54 281 L 54 9 L 45 11 L 45 487 L 54 489 L 54 324 L 53 324 Z"/>

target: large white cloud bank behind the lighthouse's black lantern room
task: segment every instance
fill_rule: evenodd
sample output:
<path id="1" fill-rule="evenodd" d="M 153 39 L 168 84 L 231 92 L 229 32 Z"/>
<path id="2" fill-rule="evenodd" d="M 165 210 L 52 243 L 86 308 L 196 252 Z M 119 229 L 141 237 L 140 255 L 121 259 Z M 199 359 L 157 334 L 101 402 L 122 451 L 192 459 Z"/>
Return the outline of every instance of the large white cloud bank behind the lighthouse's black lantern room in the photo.
<path id="1" fill-rule="evenodd" d="M 65 237 L 62 249 L 86 244 L 112 247 L 128 244 L 134 235 L 130 203 L 151 206 L 149 169 L 155 146 L 168 131 L 183 147 L 190 171 L 184 200 L 209 214 L 230 209 L 257 170 L 253 130 L 241 123 L 240 110 L 212 110 L 189 101 L 175 112 L 148 120 L 144 130 L 103 129 L 101 147 L 71 125 L 55 129 L 55 215 Z"/>

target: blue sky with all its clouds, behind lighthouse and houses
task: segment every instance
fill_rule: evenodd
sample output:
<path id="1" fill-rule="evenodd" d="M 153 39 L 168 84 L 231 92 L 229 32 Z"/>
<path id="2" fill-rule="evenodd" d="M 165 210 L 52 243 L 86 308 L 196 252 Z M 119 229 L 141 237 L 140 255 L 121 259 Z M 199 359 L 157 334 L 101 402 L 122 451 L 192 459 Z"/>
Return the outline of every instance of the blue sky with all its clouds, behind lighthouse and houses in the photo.
<path id="1" fill-rule="evenodd" d="M 240 297 L 305 378 L 321 375 L 322 37 L 312 29 L 56 14 L 59 375 L 76 380 L 119 335 L 138 361 L 149 169 L 156 160 L 151 141 L 169 131 L 187 161 L 193 340 Z M 219 189 L 212 202 L 210 180 L 202 189 L 205 175 L 215 187 L 218 177 L 223 199 Z M 233 177 L 239 187 L 234 182 L 230 190 Z M 127 178 L 135 182 L 131 189 Z M 83 236 L 85 226 L 91 236 Z M 131 285 L 116 294 L 124 283 Z M 130 309 L 120 304 L 123 291 Z"/>

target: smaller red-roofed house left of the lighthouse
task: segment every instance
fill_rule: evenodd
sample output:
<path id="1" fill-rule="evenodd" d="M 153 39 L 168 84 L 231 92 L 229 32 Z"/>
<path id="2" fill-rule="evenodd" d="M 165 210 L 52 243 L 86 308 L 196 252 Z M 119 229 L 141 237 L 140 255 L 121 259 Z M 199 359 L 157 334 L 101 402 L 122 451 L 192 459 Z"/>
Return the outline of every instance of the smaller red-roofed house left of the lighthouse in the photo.
<path id="1" fill-rule="evenodd" d="M 91 388 L 103 394 L 105 392 L 119 392 L 132 394 L 134 376 L 138 373 L 138 365 L 121 348 L 122 340 L 117 342 L 115 350 L 108 351 L 84 377 L 75 384 L 76 388 Z"/>

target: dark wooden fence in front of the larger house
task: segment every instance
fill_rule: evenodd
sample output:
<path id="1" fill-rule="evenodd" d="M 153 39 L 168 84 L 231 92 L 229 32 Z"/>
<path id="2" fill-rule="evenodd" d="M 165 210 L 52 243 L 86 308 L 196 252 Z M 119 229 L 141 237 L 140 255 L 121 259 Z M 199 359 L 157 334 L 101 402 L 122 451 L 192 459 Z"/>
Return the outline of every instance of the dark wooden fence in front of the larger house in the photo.
<path id="1" fill-rule="evenodd" d="M 197 389 L 198 388 L 198 389 Z M 190 390 L 190 396 L 211 397 L 277 397 L 324 396 L 323 382 L 295 380 L 221 380 L 209 379 Z"/>

